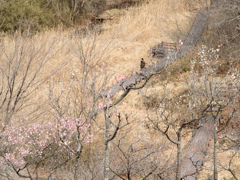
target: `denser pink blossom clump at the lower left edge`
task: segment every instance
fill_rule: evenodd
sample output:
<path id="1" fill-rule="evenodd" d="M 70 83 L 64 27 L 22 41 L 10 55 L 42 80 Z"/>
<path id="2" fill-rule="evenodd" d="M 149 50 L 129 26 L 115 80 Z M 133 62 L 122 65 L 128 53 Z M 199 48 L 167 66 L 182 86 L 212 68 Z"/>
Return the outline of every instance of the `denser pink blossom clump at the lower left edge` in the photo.
<path id="1" fill-rule="evenodd" d="M 7 149 L 5 159 L 16 167 L 22 167 L 28 159 L 42 156 L 43 149 L 56 139 L 51 129 L 52 123 L 32 124 L 26 126 L 6 126 L 0 133 L 1 144 Z"/>

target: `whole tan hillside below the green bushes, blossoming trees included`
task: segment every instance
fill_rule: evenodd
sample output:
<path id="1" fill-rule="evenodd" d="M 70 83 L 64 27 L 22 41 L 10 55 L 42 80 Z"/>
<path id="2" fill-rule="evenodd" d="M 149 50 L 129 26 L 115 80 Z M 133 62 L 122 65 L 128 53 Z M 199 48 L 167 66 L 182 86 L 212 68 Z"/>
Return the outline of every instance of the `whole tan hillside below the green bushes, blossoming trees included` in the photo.
<path id="1" fill-rule="evenodd" d="M 199 179 L 239 179 L 237 3 L 152 0 L 126 8 L 116 3 L 98 14 L 101 24 L 89 28 L 3 35 L 1 176 L 180 179 L 182 157 L 195 148 L 187 145 L 192 138 L 197 143 L 195 134 L 210 117 L 204 162 L 188 159 L 200 167 Z M 194 34 L 190 29 L 204 6 L 208 23 L 194 49 L 188 48 L 186 37 Z M 149 66 L 165 62 L 167 56 L 149 57 L 153 46 L 179 40 L 186 42 L 182 51 L 191 49 L 187 54 L 146 84 L 141 78 L 124 99 L 128 87 L 111 95 L 108 87 L 124 86 L 125 78 L 140 72 L 141 58 L 145 76 Z M 108 93 L 99 95 L 103 90 Z"/>

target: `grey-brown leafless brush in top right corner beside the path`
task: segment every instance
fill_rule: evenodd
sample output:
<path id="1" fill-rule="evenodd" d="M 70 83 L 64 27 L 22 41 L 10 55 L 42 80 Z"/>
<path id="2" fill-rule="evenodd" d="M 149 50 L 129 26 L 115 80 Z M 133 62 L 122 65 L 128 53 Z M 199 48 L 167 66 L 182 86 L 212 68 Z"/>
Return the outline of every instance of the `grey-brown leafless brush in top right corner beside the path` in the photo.
<path id="1" fill-rule="evenodd" d="M 218 0 L 211 8 L 206 38 L 208 44 L 223 44 L 226 56 L 237 57 L 239 50 L 239 3 L 239 0 Z"/>

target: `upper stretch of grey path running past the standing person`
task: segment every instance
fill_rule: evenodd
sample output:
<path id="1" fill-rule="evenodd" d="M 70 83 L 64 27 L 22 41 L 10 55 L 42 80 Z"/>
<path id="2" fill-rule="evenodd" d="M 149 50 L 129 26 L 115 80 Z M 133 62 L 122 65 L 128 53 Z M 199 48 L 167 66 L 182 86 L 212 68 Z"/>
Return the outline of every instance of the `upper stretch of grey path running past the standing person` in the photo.
<path id="1" fill-rule="evenodd" d="M 166 56 L 161 61 L 157 61 L 156 64 L 145 68 L 143 70 L 143 73 L 136 72 L 134 75 L 127 77 L 124 81 L 112 85 L 111 87 L 102 91 L 100 93 L 101 96 L 110 95 L 112 97 L 121 90 L 125 90 L 129 87 L 137 85 L 150 75 L 160 73 L 174 61 L 192 51 L 203 32 L 203 29 L 207 23 L 208 16 L 209 13 L 206 8 L 202 8 L 198 12 L 191 30 L 184 40 L 183 45 L 177 52 L 166 54 Z"/>

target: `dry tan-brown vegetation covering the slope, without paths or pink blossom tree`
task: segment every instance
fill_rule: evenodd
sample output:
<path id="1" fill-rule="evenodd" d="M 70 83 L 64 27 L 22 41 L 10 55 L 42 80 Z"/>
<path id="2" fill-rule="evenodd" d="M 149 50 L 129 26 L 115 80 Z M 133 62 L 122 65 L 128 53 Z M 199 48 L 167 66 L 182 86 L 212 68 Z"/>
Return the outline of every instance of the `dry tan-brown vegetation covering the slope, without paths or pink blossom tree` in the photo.
<path id="1" fill-rule="evenodd" d="M 221 12 L 226 11 L 228 18 L 224 16 L 223 21 L 216 23 L 222 14 L 213 7 L 208 29 L 194 51 L 169 66 L 160 76 L 153 76 L 145 88 L 132 91 L 123 101 L 111 107 L 111 111 L 108 112 L 110 108 L 99 110 L 98 107 L 110 100 L 116 102 L 119 94 L 111 99 L 98 97 L 98 93 L 116 83 L 116 76 L 129 76 L 140 71 L 142 57 L 147 66 L 152 65 L 147 56 L 150 47 L 161 41 L 183 40 L 202 5 L 205 5 L 205 1 L 146 1 L 138 6 L 128 7 L 127 10 L 123 9 L 124 13 L 118 14 L 117 19 L 104 21 L 99 26 L 84 30 L 84 33 L 76 33 L 75 29 L 59 28 L 41 32 L 33 37 L 23 37 L 18 33 L 1 37 L 0 67 L 1 77 L 4 78 L 0 85 L 0 100 L 1 103 L 5 99 L 9 101 L 8 105 L 2 103 L 3 106 L 0 107 L 1 124 L 11 124 L 15 122 L 14 119 L 23 118 L 30 122 L 52 122 L 54 117 L 80 115 L 90 123 L 93 143 L 89 146 L 79 144 L 83 150 L 77 153 L 82 154 L 72 156 L 66 166 L 54 172 L 59 179 L 66 174 L 72 179 L 77 179 L 77 176 L 80 179 L 101 179 L 103 159 L 107 162 L 104 152 L 109 153 L 110 164 L 110 169 L 104 165 L 104 174 L 108 171 L 104 176 L 115 179 L 174 179 L 176 176 L 172 172 L 176 171 L 177 150 L 161 128 L 169 126 L 169 136 L 174 142 L 181 142 L 181 146 L 185 146 L 198 123 L 182 127 L 181 125 L 195 117 L 200 118 L 202 113 L 205 113 L 206 106 L 213 104 L 211 98 L 215 95 L 211 93 L 216 91 L 209 90 L 211 85 L 226 82 L 227 78 L 235 78 L 236 82 L 239 82 L 238 69 L 233 72 L 239 68 L 239 31 L 236 25 L 239 15 L 229 12 L 228 5 L 220 3 L 218 8 L 224 10 Z M 232 6 L 236 8 L 235 4 Z M 108 18 L 108 15 L 103 16 Z M 109 17 L 111 19 L 112 14 Z M 232 21 L 236 22 L 232 24 Z M 229 24 L 231 26 L 228 26 Z M 218 33 L 215 33 L 216 30 Z M 213 60 L 209 67 L 216 70 L 211 80 L 209 79 L 212 77 L 212 71 L 207 74 L 209 81 L 204 79 L 206 64 L 202 64 L 198 56 L 198 49 L 201 49 L 202 43 L 209 43 L 209 48 L 216 47 L 215 49 L 222 44 L 217 61 L 221 65 L 218 64 L 216 68 L 215 57 L 207 56 Z M 231 48 L 233 50 L 230 51 Z M 193 60 L 196 61 L 194 65 Z M 14 69 L 16 67 L 18 68 Z M 25 84 L 22 80 L 26 72 L 28 76 Z M 10 82 L 15 82 L 15 86 L 11 86 Z M 206 82 L 211 85 L 206 85 Z M 237 90 L 239 92 L 239 87 Z M 7 91 L 12 92 L 12 95 L 3 96 Z M 21 96 L 18 96 L 19 92 Z M 226 107 L 220 106 L 217 111 L 222 113 L 223 120 L 216 132 L 219 133 L 224 127 L 221 132 L 226 135 L 225 139 L 214 142 L 219 153 L 219 179 L 230 179 L 234 176 L 239 178 L 239 152 L 236 150 L 239 141 L 234 138 L 240 132 L 237 126 L 238 108 L 239 102 L 234 101 Z M 230 121 L 233 109 L 236 109 L 237 113 Z M 159 124 L 156 124 L 158 120 Z M 156 131 L 158 128 L 161 130 Z M 182 140 L 177 141 L 181 136 L 176 133 L 179 129 L 182 131 Z M 235 133 L 234 137 L 232 133 Z M 211 153 L 216 152 L 213 152 L 211 147 L 209 149 L 210 153 L 199 179 L 206 179 L 212 175 L 214 163 Z M 228 163 L 221 161 L 223 157 Z M 81 169 L 78 170 L 81 173 L 74 176 L 73 167 L 76 164 L 76 169 Z M 44 169 L 39 171 L 40 176 L 48 176 L 51 162 L 47 161 L 40 166 Z M 34 172 L 33 169 L 30 170 Z M 9 172 L 5 173 L 1 169 L 0 173 L 5 176 Z M 27 171 L 24 173 L 27 174 Z M 16 177 L 12 172 L 10 175 Z"/>

